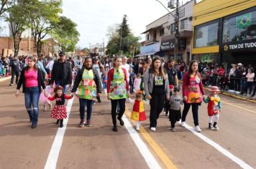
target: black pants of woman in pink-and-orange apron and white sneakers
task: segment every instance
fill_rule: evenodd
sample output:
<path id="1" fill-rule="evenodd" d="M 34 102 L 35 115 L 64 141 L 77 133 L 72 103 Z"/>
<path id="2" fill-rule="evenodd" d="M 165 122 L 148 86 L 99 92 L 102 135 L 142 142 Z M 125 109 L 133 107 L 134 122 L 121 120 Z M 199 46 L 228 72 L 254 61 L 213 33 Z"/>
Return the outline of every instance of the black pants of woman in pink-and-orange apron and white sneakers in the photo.
<path id="1" fill-rule="evenodd" d="M 184 102 L 184 109 L 182 112 L 182 117 L 181 117 L 181 121 L 185 122 L 186 121 L 186 116 L 188 115 L 188 110 L 190 109 L 192 105 L 192 113 L 193 113 L 193 123 L 196 125 L 198 124 L 198 103 L 186 103 Z"/>

